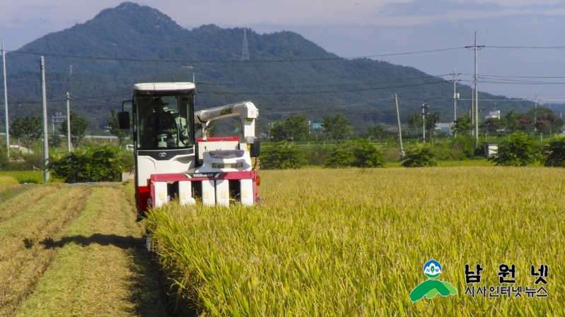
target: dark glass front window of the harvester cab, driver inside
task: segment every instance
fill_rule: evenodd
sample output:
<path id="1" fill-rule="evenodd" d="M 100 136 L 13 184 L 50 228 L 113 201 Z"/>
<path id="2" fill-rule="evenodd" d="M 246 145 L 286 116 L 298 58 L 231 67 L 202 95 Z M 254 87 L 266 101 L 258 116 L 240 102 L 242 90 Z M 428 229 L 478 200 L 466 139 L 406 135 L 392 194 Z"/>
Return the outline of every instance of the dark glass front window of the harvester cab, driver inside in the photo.
<path id="1" fill-rule="evenodd" d="M 137 96 L 138 148 L 192 145 L 192 96 Z"/>

